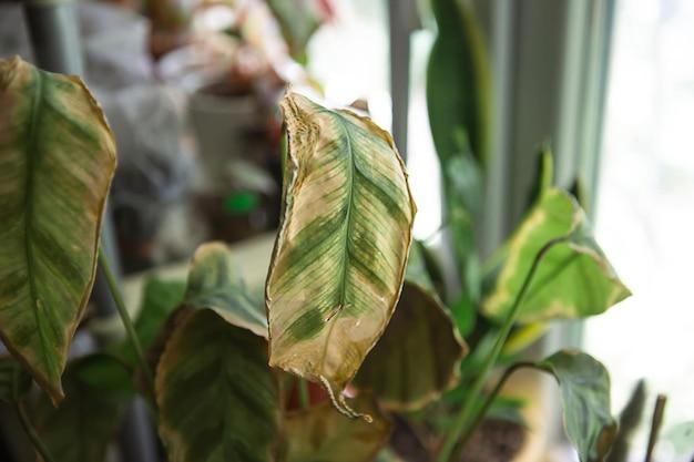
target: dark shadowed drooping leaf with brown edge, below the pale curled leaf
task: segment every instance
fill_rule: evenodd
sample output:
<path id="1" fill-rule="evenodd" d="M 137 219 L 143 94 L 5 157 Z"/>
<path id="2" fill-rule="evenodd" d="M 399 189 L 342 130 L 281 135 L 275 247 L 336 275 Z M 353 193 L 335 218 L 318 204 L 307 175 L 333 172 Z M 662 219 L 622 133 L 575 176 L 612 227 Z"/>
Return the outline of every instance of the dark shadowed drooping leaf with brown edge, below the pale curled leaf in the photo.
<path id="1" fill-rule="evenodd" d="M 155 377 L 169 461 L 271 461 L 279 398 L 267 341 L 211 309 L 181 318 Z"/>

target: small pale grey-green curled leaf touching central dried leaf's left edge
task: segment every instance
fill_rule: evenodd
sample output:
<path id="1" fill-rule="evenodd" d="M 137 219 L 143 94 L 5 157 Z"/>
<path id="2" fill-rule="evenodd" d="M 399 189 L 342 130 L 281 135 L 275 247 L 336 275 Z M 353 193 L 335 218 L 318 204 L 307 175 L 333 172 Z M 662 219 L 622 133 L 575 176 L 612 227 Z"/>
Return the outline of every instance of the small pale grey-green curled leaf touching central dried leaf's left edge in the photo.
<path id="1" fill-rule="evenodd" d="M 263 301 L 251 295 L 223 243 L 206 243 L 195 250 L 183 305 L 213 309 L 227 322 L 267 338 Z"/>

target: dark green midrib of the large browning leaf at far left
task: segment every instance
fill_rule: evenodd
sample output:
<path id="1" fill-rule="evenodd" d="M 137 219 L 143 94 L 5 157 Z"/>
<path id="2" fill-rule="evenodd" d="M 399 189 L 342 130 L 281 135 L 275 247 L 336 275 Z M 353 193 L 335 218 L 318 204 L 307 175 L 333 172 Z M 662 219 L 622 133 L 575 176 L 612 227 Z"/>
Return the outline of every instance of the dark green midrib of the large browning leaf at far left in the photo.
<path id="1" fill-rule="evenodd" d="M 43 81 L 43 75 L 41 74 L 41 72 L 34 68 L 32 68 L 32 73 L 35 76 L 35 91 L 34 91 L 34 99 L 33 102 L 31 104 L 31 117 L 29 120 L 29 130 L 28 130 L 28 136 L 29 136 L 29 142 L 27 143 L 27 183 L 25 183 L 25 187 L 27 187 L 27 193 L 24 196 L 24 255 L 27 258 L 27 279 L 29 281 L 29 295 L 31 297 L 31 310 L 33 311 L 34 315 L 34 320 L 37 322 L 37 330 L 39 332 L 39 339 L 41 341 L 41 352 L 43 353 L 43 359 L 45 362 L 45 366 L 49 370 L 49 373 L 51 376 L 55 374 L 55 363 L 51 360 L 50 356 L 48 355 L 49 348 L 48 348 L 48 339 L 45 338 L 45 332 L 42 329 L 42 324 L 41 324 L 41 317 L 40 317 L 40 312 L 39 312 L 39 296 L 37 294 L 37 286 L 34 284 L 34 279 L 33 279 L 33 273 L 34 273 L 34 256 L 33 256 L 33 251 L 31 249 L 31 239 L 30 236 L 33 234 L 32 233 L 32 225 L 33 225 L 33 189 L 34 189 L 34 182 L 33 182 L 33 170 L 34 170 L 34 155 L 35 152 L 38 151 L 38 144 L 39 144 L 39 136 L 38 136 L 38 126 L 39 126 L 39 120 L 41 116 L 41 106 L 43 103 L 43 95 L 44 95 L 44 81 Z"/>

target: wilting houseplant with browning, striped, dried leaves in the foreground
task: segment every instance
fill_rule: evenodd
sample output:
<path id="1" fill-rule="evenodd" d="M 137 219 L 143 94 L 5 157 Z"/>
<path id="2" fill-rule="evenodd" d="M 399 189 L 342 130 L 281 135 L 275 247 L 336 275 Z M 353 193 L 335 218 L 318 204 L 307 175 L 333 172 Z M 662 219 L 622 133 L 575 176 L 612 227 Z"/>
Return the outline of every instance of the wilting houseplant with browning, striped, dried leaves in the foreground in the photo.
<path id="1" fill-rule="evenodd" d="M 0 362 L 0 398 L 44 461 L 103 460 L 135 393 L 171 461 L 368 461 L 394 415 L 426 413 L 456 386 L 466 346 L 421 246 L 410 249 L 405 166 L 369 119 L 288 93 L 265 302 L 211 243 L 184 287 L 147 286 L 133 324 L 99 249 L 115 147 L 98 103 L 78 78 L 18 58 L 0 62 L 0 336 L 12 352 Z M 504 249 L 486 305 L 500 329 L 466 404 L 426 448 L 438 461 L 457 460 L 493 400 L 499 387 L 484 387 L 514 321 L 590 316 L 629 294 L 557 188 L 541 191 Z M 68 362 L 98 260 L 127 339 Z M 614 433 L 604 368 L 560 351 L 512 366 L 501 382 L 521 367 L 557 378 L 570 440 L 582 461 L 601 460 Z M 32 380 L 43 392 L 30 403 Z M 314 402 L 307 381 L 327 401 Z M 293 390 L 300 409 L 288 409 Z"/>

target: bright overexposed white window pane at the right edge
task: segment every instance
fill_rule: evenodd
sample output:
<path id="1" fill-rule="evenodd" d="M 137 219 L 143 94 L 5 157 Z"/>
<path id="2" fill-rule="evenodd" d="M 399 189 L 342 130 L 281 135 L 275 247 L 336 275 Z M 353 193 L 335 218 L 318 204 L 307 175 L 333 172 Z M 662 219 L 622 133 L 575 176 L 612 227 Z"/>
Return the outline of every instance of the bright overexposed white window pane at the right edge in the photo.
<path id="1" fill-rule="evenodd" d="M 665 432 L 694 419 L 694 2 L 623 0 L 615 21 L 596 237 L 634 295 L 586 322 L 585 347 L 615 411 L 646 379 L 642 455 L 656 392 Z"/>

